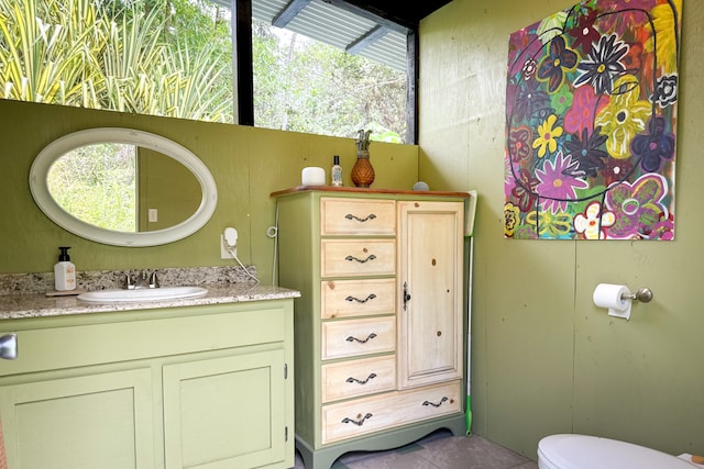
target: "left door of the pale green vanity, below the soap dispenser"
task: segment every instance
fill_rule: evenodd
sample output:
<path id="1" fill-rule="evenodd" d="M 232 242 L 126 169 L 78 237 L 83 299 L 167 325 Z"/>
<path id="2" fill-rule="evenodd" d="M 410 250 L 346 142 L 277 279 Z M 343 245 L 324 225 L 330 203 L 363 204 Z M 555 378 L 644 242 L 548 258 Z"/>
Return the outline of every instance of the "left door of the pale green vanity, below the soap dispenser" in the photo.
<path id="1" fill-rule="evenodd" d="M 150 368 L 62 379 L 35 373 L 22 380 L 0 381 L 10 469 L 156 466 Z"/>

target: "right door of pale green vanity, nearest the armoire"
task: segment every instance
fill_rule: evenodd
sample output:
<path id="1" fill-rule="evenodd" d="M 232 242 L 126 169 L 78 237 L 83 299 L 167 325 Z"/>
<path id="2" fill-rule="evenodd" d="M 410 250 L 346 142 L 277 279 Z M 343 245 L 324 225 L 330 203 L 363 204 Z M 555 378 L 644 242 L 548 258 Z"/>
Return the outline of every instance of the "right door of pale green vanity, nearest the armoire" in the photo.
<path id="1" fill-rule="evenodd" d="M 166 469 L 289 467 L 285 373 L 283 349 L 164 366 Z"/>

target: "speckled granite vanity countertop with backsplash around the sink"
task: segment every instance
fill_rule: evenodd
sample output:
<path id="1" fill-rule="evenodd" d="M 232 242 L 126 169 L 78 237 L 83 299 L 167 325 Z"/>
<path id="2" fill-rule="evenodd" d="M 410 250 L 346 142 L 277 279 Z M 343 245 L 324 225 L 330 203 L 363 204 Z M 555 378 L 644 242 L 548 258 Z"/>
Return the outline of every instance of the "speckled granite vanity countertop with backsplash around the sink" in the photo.
<path id="1" fill-rule="evenodd" d="M 254 272 L 252 267 L 248 268 Z M 122 279 L 130 271 L 80 272 L 78 292 L 123 288 Z M 208 289 L 205 297 L 175 300 L 95 303 L 72 295 L 47 295 L 52 290 L 53 273 L 0 276 L 0 321 L 25 317 L 46 317 L 64 314 L 110 313 L 176 306 L 237 303 L 243 301 L 298 298 L 300 292 L 252 281 L 240 268 L 162 268 L 157 270 L 161 287 L 197 286 Z"/>

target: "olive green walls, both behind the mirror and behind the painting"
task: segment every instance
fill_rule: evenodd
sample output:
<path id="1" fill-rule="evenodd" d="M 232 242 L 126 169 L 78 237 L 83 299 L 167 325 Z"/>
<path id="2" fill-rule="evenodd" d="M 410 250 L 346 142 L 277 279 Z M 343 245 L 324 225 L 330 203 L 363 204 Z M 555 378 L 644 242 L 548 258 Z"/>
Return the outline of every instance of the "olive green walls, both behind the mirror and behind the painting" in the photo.
<path id="1" fill-rule="evenodd" d="M 536 459 L 538 440 L 580 432 L 671 454 L 704 453 L 704 313 L 698 261 L 704 199 L 698 152 L 704 89 L 704 10 L 684 0 L 676 168 L 676 239 L 512 241 L 503 236 L 505 67 L 508 35 L 571 7 L 569 0 L 453 0 L 420 23 L 420 145 L 373 143 L 374 187 L 479 192 L 472 298 L 473 432 Z M 33 157 L 54 138 L 90 126 L 128 126 L 169 137 L 209 166 L 219 189 L 211 221 L 165 246 L 122 248 L 77 238 L 34 204 Z M 51 271 L 57 246 L 79 269 L 227 265 L 224 226 L 263 281 L 272 275 L 272 191 L 296 186 L 305 166 L 329 168 L 339 154 L 344 183 L 352 138 L 198 123 L 0 100 L 0 272 Z M 600 282 L 648 287 L 630 321 L 594 306 Z"/>

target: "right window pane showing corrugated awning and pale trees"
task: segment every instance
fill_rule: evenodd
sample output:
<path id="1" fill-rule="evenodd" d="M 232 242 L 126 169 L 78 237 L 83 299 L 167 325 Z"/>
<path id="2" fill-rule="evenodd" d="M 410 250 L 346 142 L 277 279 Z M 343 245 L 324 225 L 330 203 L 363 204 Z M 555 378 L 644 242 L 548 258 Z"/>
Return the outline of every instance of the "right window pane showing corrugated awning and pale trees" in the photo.
<path id="1" fill-rule="evenodd" d="M 252 18 L 255 125 L 407 141 L 406 27 L 340 1 L 252 0 Z"/>

